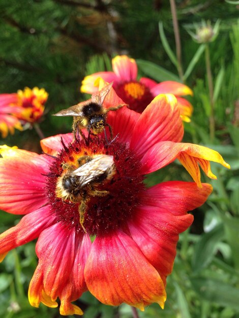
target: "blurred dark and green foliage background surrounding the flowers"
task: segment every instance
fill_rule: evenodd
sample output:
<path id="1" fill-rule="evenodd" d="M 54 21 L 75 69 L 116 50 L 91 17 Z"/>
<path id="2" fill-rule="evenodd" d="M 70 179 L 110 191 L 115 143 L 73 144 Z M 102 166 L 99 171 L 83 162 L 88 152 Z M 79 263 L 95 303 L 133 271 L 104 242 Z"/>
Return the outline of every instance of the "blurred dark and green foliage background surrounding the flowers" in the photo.
<path id="1" fill-rule="evenodd" d="M 80 93 L 82 79 L 111 70 L 111 58 L 117 54 L 136 59 L 139 78 L 157 82 L 173 79 L 191 87 L 194 96 L 188 100 L 194 112 L 191 122 L 185 123 L 183 141 L 219 151 L 231 170 L 212 164 L 218 176 L 214 181 L 202 174 L 202 181 L 212 183 L 214 192 L 207 203 L 192 212 L 194 223 L 180 236 L 174 270 L 167 280 L 165 309 L 153 304 L 139 316 L 237 318 L 239 2 L 177 0 L 175 5 L 181 63 L 176 54 L 172 1 L 1 0 L 0 93 L 13 93 L 25 86 L 45 88 L 49 98 L 39 125 L 48 137 L 71 131 L 72 118 L 51 114 L 88 99 L 89 95 Z M 213 31 L 209 40 L 198 39 L 203 25 Z M 206 52 L 211 62 L 212 98 Z M 0 142 L 41 151 L 39 136 L 31 126 Z M 167 180 L 191 181 L 191 177 L 180 164 L 173 163 L 150 175 L 146 182 L 153 185 Z M 18 221 L 19 216 L 0 211 L 0 232 Z M 36 265 L 35 242 L 9 252 L 0 264 L 0 317 L 61 316 L 57 308 L 37 309 L 28 303 L 28 284 Z M 105 306 L 89 293 L 78 304 L 85 318 L 132 317 L 128 305 Z"/>

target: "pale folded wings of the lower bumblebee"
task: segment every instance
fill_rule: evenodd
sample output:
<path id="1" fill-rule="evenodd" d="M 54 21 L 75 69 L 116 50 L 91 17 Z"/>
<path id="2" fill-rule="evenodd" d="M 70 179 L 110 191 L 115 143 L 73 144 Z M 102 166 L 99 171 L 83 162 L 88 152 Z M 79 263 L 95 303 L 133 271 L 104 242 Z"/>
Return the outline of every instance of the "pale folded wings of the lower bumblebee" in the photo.
<path id="1" fill-rule="evenodd" d="M 91 161 L 82 165 L 72 172 L 75 176 L 80 177 L 80 187 L 94 181 L 97 177 L 105 173 L 114 164 L 112 155 L 98 155 Z"/>

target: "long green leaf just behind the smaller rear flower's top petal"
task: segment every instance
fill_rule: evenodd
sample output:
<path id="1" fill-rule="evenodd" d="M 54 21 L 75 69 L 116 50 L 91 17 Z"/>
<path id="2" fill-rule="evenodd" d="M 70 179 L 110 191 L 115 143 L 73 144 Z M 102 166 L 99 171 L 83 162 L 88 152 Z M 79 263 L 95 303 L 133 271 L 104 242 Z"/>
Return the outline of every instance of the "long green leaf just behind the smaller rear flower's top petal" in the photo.
<path id="1" fill-rule="evenodd" d="M 145 61 L 143 59 L 136 59 L 137 65 L 139 69 L 146 74 L 147 76 L 150 76 L 154 80 L 158 82 L 163 81 L 175 81 L 180 82 L 180 79 L 174 75 L 173 73 L 161 68 L 157 64 Z"/>

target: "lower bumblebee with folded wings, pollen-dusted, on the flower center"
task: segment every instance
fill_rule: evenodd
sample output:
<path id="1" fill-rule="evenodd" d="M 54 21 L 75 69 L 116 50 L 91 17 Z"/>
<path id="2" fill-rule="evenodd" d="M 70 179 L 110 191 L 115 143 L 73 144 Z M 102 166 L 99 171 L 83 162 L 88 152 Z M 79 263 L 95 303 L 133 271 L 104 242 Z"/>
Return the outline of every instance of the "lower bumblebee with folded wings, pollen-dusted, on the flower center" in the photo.
<path id="1" fill-rule="evenodd" d="M 105 154 L 83 156 L 80 162 L 83 163 L 82 166 L 75 170 L 69 166 L 66 172 L 58 177 L 55 194 L 64 201 L 80 203 L 79 221 L 85 231 L 83 224 L 87 202 L 91 197 L 104 197 L 108 194 L 107 190 L 98 190 L 97 187 L 112 179 L 115 165 L 113 156 Z"/>

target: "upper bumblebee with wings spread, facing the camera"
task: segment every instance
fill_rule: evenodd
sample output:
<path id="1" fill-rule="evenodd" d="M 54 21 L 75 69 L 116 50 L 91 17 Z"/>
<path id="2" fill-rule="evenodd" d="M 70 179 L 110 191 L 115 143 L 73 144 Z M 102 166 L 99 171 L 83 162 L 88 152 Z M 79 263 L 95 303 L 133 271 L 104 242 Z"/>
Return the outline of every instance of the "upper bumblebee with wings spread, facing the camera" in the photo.
<path id="1" fill-rule="evenodd" d="M 103 107 L 103 102 L 112 87 L 113 82 L 105 86 L 100 92 L 92 94 L 91 99 L 81 102 L 77 105 L 63 109 L 53 116 L 73 116 L 73 131 L 76 136 L 77 129 L 80 135 L 84 138 L 81 130 L 86 128 L 88 136 L 92 133 L 98 135 L 104 131 L 106 137 L 105 126 L 108 126 L 110 131 L 110 138 L 112 139 L 111 126 L 106 122 L 107 113 L 109 111 L 116 111 L 127 104 L 121 104 L 117 107 L 110 107 L 108 109 Z M 107 140 L 107 137 L 106 137 Z"/>

